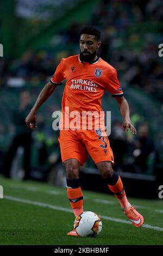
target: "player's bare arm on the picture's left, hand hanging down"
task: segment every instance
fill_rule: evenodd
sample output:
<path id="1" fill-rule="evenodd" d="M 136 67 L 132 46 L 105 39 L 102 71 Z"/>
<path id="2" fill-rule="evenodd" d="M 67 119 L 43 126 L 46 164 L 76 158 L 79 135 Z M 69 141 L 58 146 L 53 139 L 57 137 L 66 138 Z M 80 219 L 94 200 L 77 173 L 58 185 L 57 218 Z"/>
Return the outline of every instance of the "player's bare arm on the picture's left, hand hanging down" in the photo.
<path id="1" fill-rule="evenodd" d="M 48 82 L 48 83 L 46 83 L 45 87 L 43 87 L 43 89 L 41 90 L 41 93 L 37 97 L 35 105 L 31 109 L 31 111 L 29 112 L 29 114 L 27 115 L 26 120 L 25 120 L 29 129 L 32 129 L 32 130 L 36 129 L 36 127 L 37 127 L 36 126 L 36 113 L 37 113 L 38 109 L 41 107 L 41 105 L 43 104 L 43 102 L 45 102 L 48 99 L 48 97 L 51 96 L 51 94 L 54 92 L 56 87 L 57 86 L 55 86 L 51 82 Z"/>

